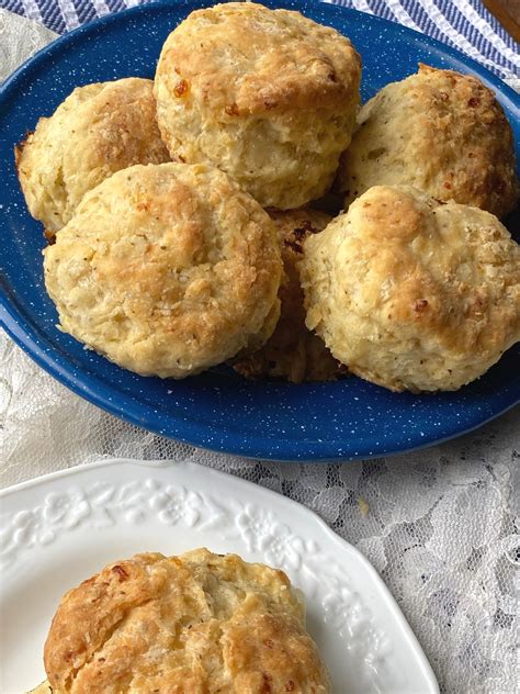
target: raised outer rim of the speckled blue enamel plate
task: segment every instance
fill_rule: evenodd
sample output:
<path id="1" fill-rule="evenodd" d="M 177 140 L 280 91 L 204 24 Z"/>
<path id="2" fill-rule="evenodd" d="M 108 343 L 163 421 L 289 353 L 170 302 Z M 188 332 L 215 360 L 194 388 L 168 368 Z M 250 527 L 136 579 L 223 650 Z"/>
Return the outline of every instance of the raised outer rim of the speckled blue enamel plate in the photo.
<path id="1" fill-rule="evenodd" d="M 44 46 L 34 56 L 20 66 L 0 86 L 0 104 L 4 104 L 12 89 L 14 89 L 19 80 L 23 79 L 25 72 L 31 69 L 38 69 L 39 64 L 47 59 L 47 56 L 61 52 L 68 48 L 68 44 L 74 42 L 76 37 L 83 34 L 89 34 L 97 31 L 99 26 L 106 24 L 120 23 L 127 21 L 127 16 L 139 15 L 142 13 L 154 12 L 157 9 L 165 8 L 200 8 L 212 4 L 211 0 L 206 2 L 197 2 L 196 0 L 159 0 L 149 4 L 142 4 L 120 12 L 106 14 L 102 18 L 93 20 L 82 24 L 76 30 L 68 32 Z M 269 2 L 269 4 L 283 4 L 283 2 Z M 301 10 L 304 10 L 305 5 L 310 4 L 307 0 L 298 0 L 297 4 Z M 403 26 L 396 22 L 392 22 L 384 18 L 370 15 L 364 12 L 360 12 L 354 9 L 344 8 L 340 4 L 321 2 L 326 12 L 331 12 L 336 15 L 355 15 L 358 19 L 360 15 L 365 16 L 368 22 L 378 23 L 382 26 L 392 25 L 392 31 L 400 33 L 405 37 L 420 38 L 422 43 L 432 45 L 442 53 L 453 56 L 457 60 L 467 65 L 470 69 L 476 72 L 478 76 L 490 82 L 495 89 L 507 99 L 509 107 L 519 112 L 520 115 L 520 94 L 517 94 L 506 82 L 499 77 L 490 72 L 486 67 L 466 56 L 465 54 L 452 48 L 451 46 L 443 44 L 426 34 L 421 34 L 407 26 Z M 3 103 L 2 103 L 3 102 Z M 21 306 L 23 309 L 23 305 Z M 272 439 L 269 437 L 262 437 L 248 433 L 246 437 L 237 436 L 237 434 L 222 425 L 215 425 L 212 423 L 200 423 L 195 419 L 183 421 L 176 417 L 174 414 L 169 413 L 168 417 L 168 430 L 165 430 L 160 422 L 155 417 L 152 407 L 148 403 L 138 402 L 137 410 L 135 407 L 135 399 L 129 393 L 124 393 L 112 387 L 110 382 L 99 378 L 97 374 L 87 371 L 84 367 L 81 370 L 81 377 L 78 379 L 75 377 L 72 369 L 70 368 L 70 361 L 61 363 L 64 359 L 68 359 L 66 354 L 58 352 L 54 348 L 50 352 L 45 350 L 39 344 L 38 331 L 29 321 L 25 320 L 23 312 L 19 310 L 19 306 L 10 301 L 8 292 L 0 290 L 0 325 L 2 325 L 11 336 L 11 338 L 47 373 L 53 378 L 56 378 L 61 384 L 67 387 L 77 395 L 86 399 L 91 404 L 101 407 L 110 414 L 126 421 L 138 427 L 144 427 L 149 432 L 152 432 L 159 436 L 166 436 L 173 438 L 182 443 L 202 446 L 208 450 L 225 452 L 233 456 L 246 456 L 255 459 L 273 460 L 273 461 L 297 461 L 297 462 L 348 462 L 349 460 L 365 460 L 371 458 L 389 457 L 399 454 L 412 452 L 420 450 L 429 446 L 439 445 L 450 439 L 456 438 L 477 429 L 485 425 L 487 422 L 495 419 L 502 415 L 508 410 L 515 407 L 520 402 L 520 380 L 518 388 L 511 393 L 506 403 L 502 403 L 491 414 L 487 413 L 484 416 L 474 416 L 467 426 L 460 428 L 456 422 L 452 422 L 449 427 L 444 429 L 443 436 L 438 436 L 436 432 L 431 430 L 429 436 L 420 437 L 417 432 L 410 433 L 410 445 L 399 445 L 395 439 L 392 444 L 384 444 L 376 446 L 374 449 L 373 443 L 366 438 L 358 438 L 358 446 L 355 451 L 342 452 L 342 448 L 346 447 L 346 439 L 337 440 L 327 438 L 326 440 L 318 441 L 316 437 L 313 439 L 291 439 L 281 438 L 275 439 L 276 446 L 273 449 Z M 37 326 L 36 326 L 37 327 Z M 515 347 L 513 347 L 515 348 Z M 208 433 L 217 435 L 218 440 L 213 438 L 211 443 L 207 443 Z M 347 441 L 348 446 L 348 441 Z M 338 452 L 338 448 L 341 452 Z"/>

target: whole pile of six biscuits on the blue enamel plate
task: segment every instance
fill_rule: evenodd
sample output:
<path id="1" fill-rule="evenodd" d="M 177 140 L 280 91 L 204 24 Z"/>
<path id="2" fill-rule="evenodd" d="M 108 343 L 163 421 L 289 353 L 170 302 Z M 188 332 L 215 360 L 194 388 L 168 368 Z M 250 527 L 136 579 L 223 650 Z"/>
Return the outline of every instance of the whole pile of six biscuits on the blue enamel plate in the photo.
<path id="1" fill-rule="evenodd" d="M 16 149 L 61 329 L 161 378 L 487 371 L 520 339 L 507 117 L 451 70 L 361 108 L 360 81 L 337 31 L 229 2 L 172 31 L 154 81 L 77 88 Z"/>

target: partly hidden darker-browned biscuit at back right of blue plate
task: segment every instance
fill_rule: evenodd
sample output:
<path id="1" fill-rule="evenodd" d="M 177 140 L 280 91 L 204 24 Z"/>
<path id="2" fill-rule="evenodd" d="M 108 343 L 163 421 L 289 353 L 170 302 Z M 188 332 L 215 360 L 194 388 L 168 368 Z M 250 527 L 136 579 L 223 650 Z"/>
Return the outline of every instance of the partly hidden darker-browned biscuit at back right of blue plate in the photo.
<path id="1" fill-rule="evenodd" d="M 471 75 L 420 65 L 361 109 L 342 157 L 346 208 L 371 186 L 414 186 L 504 216 L 518 202 L 511 127 Z"/>

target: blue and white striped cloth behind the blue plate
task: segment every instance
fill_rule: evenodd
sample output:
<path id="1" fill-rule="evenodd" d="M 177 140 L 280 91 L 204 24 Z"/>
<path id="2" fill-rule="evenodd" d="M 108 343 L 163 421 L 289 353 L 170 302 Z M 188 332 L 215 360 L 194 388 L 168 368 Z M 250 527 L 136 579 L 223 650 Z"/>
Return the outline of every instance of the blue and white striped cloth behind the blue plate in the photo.
<path id="1" fill-rule="evenodd" d="M 0 7 L 61 34 L 142 0 L 0 0 Z M 146 1 L 146 0 L 145 0 Z M 520 83 L 520 46 L 479 0 L 332 0 L 422 32 Z"/>

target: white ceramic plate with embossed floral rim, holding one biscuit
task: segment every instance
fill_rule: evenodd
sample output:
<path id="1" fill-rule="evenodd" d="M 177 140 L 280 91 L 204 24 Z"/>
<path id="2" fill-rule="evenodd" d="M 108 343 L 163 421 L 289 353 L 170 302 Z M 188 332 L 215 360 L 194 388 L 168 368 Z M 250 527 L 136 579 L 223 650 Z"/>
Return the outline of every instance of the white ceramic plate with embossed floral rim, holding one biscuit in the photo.
<path id="1" fill-rule="evenodd" d="M 206 546 L 284 569 L 338 694 L 433 694 L 433 673 L 375 570 L 304 506 L 193 463 L 114 460 L 0 495 L 2 694 L 45 679 L 42 653 L 65 591 L 139 551 Z"/>

